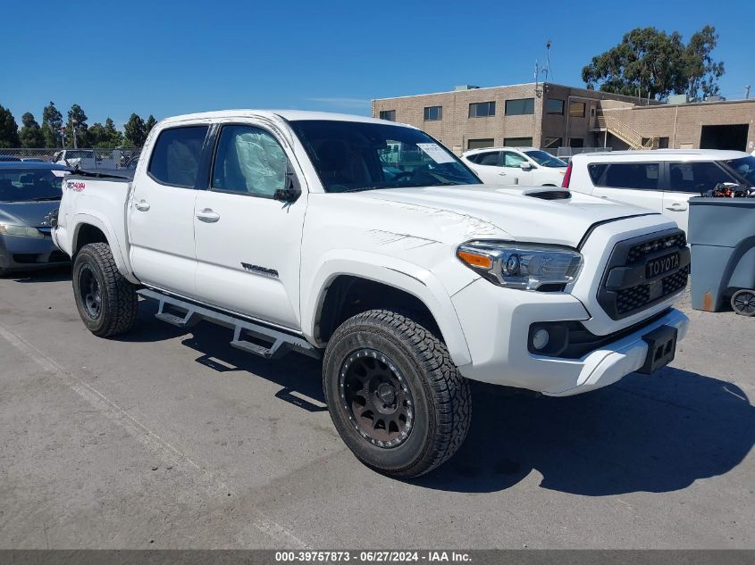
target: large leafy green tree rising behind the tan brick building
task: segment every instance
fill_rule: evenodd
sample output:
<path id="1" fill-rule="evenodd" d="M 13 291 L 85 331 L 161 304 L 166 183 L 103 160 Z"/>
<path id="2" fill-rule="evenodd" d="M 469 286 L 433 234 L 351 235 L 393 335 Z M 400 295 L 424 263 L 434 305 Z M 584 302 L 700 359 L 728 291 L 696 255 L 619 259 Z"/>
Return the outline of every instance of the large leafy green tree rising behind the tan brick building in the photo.
<path id="1" fill-rule="evenodd" d="M 626 96 L 710 96 L 717 93 L 717 79 L 724 74 L 724 63 L 710 56 L 717 38 L 712 26 L 692 34 L 687 45 L 677 31 L 633 29 L 617 46 L 592 57 L 582 79 L 587 87 L 598 85 L 603 92 Z"/>

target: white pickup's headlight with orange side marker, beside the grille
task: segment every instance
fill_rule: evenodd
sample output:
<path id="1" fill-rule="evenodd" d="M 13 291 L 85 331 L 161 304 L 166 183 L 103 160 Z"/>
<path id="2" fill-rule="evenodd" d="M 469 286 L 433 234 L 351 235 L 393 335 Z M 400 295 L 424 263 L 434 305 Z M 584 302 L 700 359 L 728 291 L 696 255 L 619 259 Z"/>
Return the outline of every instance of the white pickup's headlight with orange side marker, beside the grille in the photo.
<path id="1" fill-rule="evenodd" d="M 501 287 L 563 290 L 582 269 L 582 255 L 558 245 L 470 241 L 457 257 L 467 267 Z"/>

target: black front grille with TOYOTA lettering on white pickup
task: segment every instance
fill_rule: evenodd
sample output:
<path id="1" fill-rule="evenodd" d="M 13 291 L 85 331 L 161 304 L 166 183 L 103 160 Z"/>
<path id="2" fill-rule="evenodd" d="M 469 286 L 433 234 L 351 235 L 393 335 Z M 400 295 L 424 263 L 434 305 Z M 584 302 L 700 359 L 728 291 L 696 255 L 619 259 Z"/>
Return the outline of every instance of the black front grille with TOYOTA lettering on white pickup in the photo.
<path id="1" fill-rule="evenodd" d="M 598 303 L 613 320 L 642 312 L 687 285 L 690 251 L 681 229 L 661 234 L 634 237 L 619 242 L 613 249 L 602 284 Z M 648 263 L 673 257 L 673 267 L 649 277 Z M 678 261 L 676 260 L 678 258 Z"/>

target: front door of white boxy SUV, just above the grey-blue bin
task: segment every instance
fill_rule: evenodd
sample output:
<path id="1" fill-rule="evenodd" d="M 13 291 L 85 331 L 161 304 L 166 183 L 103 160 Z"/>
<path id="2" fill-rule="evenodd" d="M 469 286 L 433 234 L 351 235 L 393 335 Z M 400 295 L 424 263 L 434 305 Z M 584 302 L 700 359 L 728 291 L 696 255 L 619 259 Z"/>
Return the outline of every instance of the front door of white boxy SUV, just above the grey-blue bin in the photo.
<path id="1" fill-rule="evenodd" d="M 716 187 L 719 182 L 736 182 L 715 162 L 669 162 L 668 183 L 663 194 L 663 213 L 687 231 L 689 199 Z"/>

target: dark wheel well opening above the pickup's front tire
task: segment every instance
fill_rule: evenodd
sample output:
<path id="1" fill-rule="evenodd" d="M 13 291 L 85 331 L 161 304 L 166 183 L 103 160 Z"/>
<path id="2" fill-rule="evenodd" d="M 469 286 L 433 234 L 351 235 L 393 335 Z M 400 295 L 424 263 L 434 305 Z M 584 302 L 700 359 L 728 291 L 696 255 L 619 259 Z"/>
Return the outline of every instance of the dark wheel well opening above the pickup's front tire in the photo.
<path id="1" fill-rule="evenodd" d="M 317 336 L 327 342 L 344 321 L 368 310 L 407 314 L 442 339 L 430 309 L 415 295 L 368 278 L 340 275 L 326 291 Z"/>

